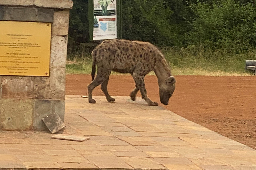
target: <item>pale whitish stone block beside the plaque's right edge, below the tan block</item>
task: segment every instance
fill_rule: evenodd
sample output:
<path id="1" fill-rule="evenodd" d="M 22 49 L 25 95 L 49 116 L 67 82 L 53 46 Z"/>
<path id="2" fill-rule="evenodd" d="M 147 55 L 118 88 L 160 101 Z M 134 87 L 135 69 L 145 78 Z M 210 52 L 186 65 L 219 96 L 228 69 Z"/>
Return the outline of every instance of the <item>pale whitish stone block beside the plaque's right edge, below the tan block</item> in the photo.
<path id="1" fill-rule="evenodd" d="M 50 58 L 52 67 L 66 67 L 67 46 L 67 36 L 52 36 Z"/>

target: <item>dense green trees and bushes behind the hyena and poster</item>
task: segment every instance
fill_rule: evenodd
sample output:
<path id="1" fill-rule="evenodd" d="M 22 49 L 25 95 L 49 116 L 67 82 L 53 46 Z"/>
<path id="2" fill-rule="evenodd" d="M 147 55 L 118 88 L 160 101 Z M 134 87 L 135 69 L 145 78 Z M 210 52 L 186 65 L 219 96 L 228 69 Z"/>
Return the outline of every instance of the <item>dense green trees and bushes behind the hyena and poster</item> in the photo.
<path id="1" fill-rule="evenodd" d="M 81 42 L 90 42 L 88 0 L 73 1 L 68 59 L 84 60 L 90 58 L 93 49 L 88 47 L 81 51 L 80 46 Z M 123 39 L 159 46 L 174 68 L 203 68 L 204 65 L 213 68 L 217 63 L 215 70 L 243 71 L 244 60 L 256 58 L 255 2 L 123 0 Z M 233 66 L 228 67 L 228 64 Z"/>

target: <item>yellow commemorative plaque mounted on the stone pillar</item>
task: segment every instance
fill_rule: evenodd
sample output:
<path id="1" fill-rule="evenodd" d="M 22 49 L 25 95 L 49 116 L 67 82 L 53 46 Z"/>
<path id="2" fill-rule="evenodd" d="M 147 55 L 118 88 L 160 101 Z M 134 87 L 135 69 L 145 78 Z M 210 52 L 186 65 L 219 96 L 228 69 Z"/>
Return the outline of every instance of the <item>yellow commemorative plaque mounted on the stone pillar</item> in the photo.
<path id="1" fill-rule="evenodd" d="M 49 76 L 51 23 L 0 21 L 0 75 Z"/>

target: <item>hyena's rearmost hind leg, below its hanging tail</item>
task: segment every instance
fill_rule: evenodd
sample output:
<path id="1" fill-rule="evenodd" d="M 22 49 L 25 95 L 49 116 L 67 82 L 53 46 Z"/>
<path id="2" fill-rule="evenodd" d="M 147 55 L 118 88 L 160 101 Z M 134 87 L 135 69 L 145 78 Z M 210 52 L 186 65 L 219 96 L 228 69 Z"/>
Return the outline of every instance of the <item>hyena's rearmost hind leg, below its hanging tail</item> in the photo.
<path id="1" fill-rule="evenodd" d="M 92 98 L 92 91 L 95 87 L 99 86 L 104 81 L 106 81 L 108 79 L 110 73 L 111 73 L 111 71 L 109 71 L 108 69 L 98 67 L 98 72 L 97 72 L 95 79 L 87 86 L 89 103 L 96 103 L 96 101 Z"/>

